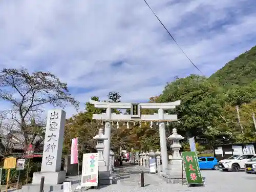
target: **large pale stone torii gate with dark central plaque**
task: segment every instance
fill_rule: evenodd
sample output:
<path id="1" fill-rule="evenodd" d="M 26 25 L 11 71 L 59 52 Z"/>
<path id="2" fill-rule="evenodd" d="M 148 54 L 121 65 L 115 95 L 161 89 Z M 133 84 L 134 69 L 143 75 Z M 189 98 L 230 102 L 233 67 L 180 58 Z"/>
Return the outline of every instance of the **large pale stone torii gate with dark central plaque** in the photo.
<path id="1" fill-rule="evenodd" d="M 93 114 L 93 119 L 105 121 L 104 135 L 108 139 L 104 141 L 104 161 L 106 165 L 109 165 L 110 157 L 110 142 L 111 142 L 111 122 L 113 121 L 157 121 L 159 123 L 159 135 L 160 135 L 160 148 L 162 156 L 162 170 L 168 168 L 166 135 L 164 122 L 177 121 L 177 115 L 169 115 L 164 113 L 164 110 L 175 109 L 177 105 L 180 105 L 180 100 L 168 103 L 122 103 L 122 102 L 100 102 L 90 99 L 90 103 L 94 104 L 95 108 L 106 109 L 106 113 Z M 112 113 L 112 109 L 131 109 L 131 115 Z M 158 110 L 158 113 L 154 115 L 143 115 L 141 109 L 153 109 Z"/>

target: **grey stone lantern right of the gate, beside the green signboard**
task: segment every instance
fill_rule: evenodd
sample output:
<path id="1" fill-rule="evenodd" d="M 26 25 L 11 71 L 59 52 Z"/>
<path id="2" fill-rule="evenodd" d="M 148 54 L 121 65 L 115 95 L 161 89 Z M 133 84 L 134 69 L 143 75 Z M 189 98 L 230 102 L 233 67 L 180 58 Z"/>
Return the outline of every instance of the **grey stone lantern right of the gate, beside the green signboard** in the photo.
<path id="1" fill-rule="evenodd" d="M 170 148 L 172 148 L 173 151 L 173 158 L 170 161 L 170 164 L 168 164 L 168 169 L 170 170 L 170 174 L 182 174 L 182 158 L 180 155 L 180 140 L 184 139 L 181 135 L 177 133 L 177 129 L 173 129 L 173 134 L 170 135 L 167 139 L 172 141 L 172 145 L 170 145 Z M 175 171 L 177 170 L 177 173 Z"/>

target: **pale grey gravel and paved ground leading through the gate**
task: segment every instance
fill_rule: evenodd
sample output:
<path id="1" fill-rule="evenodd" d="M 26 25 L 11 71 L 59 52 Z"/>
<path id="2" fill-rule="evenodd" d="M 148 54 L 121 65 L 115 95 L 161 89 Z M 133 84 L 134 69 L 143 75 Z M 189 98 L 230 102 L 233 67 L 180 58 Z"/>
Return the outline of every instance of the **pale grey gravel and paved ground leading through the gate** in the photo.
<path id="1" fill-rule="evenodd" d="M 140 187 L 141 166 L 129 166 L 124 163 L 123 167 L 115 169 L 115 176 L 118 177 L 117 184 L 101 186 L 100 189 L 89 189 L 82 191 L 88 192 L 254 192 L 256 190 L 256 175 L 246 174 L 245 172 L 222 172 L 216 170 L 203 170 L 202 176 L 205 177 L 205 186 L 188 187 L 182 184 L 167 184 L 157 174 L 144 174 L 145 187 Z M 73 185 L 72 192 L 76 185 Z M 54 191 L 54 192 L 62 192 Z M 45 191 L 48 192 L 48 191 Z"/>

